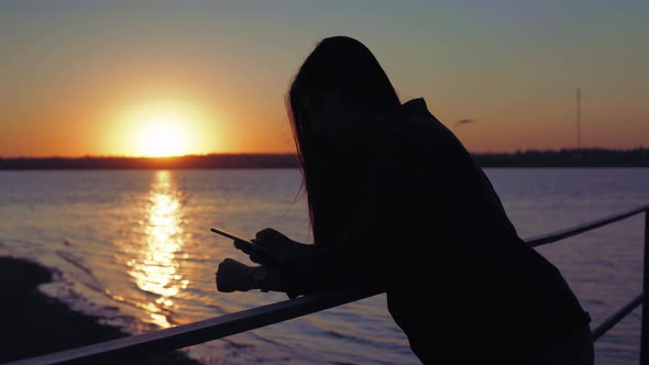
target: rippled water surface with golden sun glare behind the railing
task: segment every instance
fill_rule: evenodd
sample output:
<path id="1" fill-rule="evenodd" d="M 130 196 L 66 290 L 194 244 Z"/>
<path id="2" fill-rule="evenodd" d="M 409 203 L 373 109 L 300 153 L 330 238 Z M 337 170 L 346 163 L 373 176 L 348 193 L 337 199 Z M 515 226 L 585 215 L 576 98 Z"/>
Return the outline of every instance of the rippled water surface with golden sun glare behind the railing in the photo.
<path id="1" fill-rule="evenodd" d="M 522 237 L 649 202 L 649 169 L 486 169 Z M 295 169 L 0 172 L 0 254 L 59 272 L 43 290 L 132 333 L 284 300 L 219 294 L 224 257 L 245 261 L 221 226 L 253 236 L 273 226 L 310 241 Z M 642 222 L 539 251 L 554 263 L 594 324 L 641 289 Z M 639 310 L 596 344 L 597 364 L 637 363 Z M 205 363 L 417 364 L 377 296 L 188 349 Z"/>

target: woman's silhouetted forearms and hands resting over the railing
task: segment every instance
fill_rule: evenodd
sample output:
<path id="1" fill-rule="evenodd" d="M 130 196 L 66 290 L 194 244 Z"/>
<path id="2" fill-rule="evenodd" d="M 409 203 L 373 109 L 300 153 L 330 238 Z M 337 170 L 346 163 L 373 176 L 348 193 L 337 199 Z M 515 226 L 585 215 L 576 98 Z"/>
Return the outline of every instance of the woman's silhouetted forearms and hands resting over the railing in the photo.
<path id="1" fill-rule="evenodd" d="M 270 248 L 266 257 L 235 246 L 251 259 L 263 264 L 249 266 L 231 258 L 224 259 L 217 272 L 219 291 L 283 291 L 294 298 L 323 289 L 382 289 L 385 290 L 389 267 L 387 255 L 367 242 L 351 242 L 346 235 L 341 242 L 328 245 L 301 244 L 279 232 L 266 229 L 255 240 Z"/>

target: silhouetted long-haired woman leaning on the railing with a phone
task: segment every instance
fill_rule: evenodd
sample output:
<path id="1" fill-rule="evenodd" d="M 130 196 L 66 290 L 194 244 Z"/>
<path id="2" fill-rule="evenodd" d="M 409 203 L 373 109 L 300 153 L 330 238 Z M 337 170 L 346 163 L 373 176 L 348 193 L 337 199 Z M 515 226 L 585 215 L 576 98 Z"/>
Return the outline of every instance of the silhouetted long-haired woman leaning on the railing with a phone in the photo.
<path id="1" fill-rule="evenodd" d="M 287 110 L 315 244 L 266 229 L 262 266 L 227 258 L 221 291 L 387 292 L 426 364 L 593 364 L 590 317 L 522 242 L 492 185 L 424 99 L 400 103 L 360 42 L 321 41 Z"/>

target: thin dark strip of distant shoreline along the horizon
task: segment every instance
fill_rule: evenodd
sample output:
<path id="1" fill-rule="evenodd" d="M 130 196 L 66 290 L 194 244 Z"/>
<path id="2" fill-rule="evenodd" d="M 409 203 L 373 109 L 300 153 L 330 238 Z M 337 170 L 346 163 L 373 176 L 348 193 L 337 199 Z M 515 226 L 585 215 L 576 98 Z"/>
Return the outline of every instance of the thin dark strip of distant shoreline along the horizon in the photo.
<path id="1" fill-rule="evenodd" d="M 649 167 L 649 148 L 475 153 L 481 167 Z M 0 170 L 297 168 L 294 154 L 212 154 L 182 157 L 11 157 Z"/>

